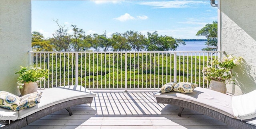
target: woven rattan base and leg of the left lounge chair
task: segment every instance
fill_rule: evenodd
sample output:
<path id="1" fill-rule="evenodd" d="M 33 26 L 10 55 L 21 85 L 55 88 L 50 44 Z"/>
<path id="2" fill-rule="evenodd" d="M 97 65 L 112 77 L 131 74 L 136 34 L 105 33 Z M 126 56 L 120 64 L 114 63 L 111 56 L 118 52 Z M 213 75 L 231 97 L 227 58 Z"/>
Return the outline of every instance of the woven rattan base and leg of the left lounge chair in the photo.
<path id="1" fill-rule="evenodd" d="M 93 97 L 87 97 L 87 98 L 79 98 L 79 99 L 75 99 L 75 100 L 69 100 L 66 102 L 62 102 L 60 104 L 55 104 L 48 108 L 37 111 L 31 115 L 28 115 L 27 117 L 24 117 L 22 119 L 10 121 L 10 124 L 5 125 L 1 129 L 20 129 L 20 128 L 25 127 L 26 125 L 32 123 L 33 121 L 36 121 L 46 115 L 54 113 L 55 111 L 59 111 L 61 109 L 65 109 L 65 108 L 70 108 L 71 106 L 76 106 L 76 105 L 80 105 L 80 104 L 91 104 L 92 100 L 93 100 Z M 70 109 L 67 109 L 67 110 L 70 110 Z M 68 111 L 69 114 L 71 113 L 70 111 Z M 72 113 L 70 115 L 72 115 Z M 2 123 L 3 122 L 4 121 L 2 121 Z M 9 121 L 7 121 L 5 123 L 9 123 Z"/>

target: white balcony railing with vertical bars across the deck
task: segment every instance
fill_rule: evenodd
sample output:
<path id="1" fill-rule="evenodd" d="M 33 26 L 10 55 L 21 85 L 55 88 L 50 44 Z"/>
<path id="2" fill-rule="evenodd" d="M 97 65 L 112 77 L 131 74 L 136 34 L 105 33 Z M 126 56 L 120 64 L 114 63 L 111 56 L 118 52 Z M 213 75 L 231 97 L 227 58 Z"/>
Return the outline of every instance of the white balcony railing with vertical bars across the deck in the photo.
<path id="1" fill-rule="evenodd" d="M 158 89 L 167 82 L 208 87 L 202 68 L 224 51 L 29 52 L 32 66 L 49 70 L 39 88 Z"/>

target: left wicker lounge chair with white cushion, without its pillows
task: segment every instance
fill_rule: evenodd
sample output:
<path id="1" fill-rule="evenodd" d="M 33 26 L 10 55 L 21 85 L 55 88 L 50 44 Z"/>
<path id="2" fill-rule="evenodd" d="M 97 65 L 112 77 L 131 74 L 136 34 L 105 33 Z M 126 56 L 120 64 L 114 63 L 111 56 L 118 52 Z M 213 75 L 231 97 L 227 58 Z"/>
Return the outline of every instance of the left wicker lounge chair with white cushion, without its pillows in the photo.
<path id="1" fill-rule="evenodd" d="M 60 86 L 41 91 L 43 93 L 40 103 L 32 108 L 20 111 L 0 108 L 0 121 L 5 125 L 2 128 L 20 129 L 61 109 L 67 109 L 69 115 L 72 115 L 71 106 L 92 103 L 93 97 L 96 96 L 82 86 Z"/>

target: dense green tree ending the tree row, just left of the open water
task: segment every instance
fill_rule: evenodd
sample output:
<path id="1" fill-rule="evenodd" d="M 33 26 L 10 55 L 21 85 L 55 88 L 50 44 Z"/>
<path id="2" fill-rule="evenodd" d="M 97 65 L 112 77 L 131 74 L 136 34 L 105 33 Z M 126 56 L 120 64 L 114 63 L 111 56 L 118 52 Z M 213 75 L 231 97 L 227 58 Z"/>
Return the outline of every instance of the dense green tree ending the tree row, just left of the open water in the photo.
<path id="1" fill-rule="evenodd" d="M 174 39 L 170 36 L 158 36 L 157 31 L 148 32 L 147 51 L 174 51 L 179 44 L 185 45 L 185 42 L 180 39 Z"/>

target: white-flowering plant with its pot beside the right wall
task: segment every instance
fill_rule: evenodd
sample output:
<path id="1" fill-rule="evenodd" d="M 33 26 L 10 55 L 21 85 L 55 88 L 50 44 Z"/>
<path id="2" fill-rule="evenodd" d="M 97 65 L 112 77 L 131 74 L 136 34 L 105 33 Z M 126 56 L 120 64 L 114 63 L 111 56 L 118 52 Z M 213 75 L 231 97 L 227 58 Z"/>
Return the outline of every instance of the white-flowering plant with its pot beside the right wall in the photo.
<path id="1" fill-rule="evenodd" d="M 214 59 L 211 63 L 212 67 L 204 67 L 202 72 L 204 73 L 204 79 L 210 80 L 210 89 L 226 93 L 226 83 L 230 84 L 231 81 L 234 81 L 232 77 L 235 75 L 232 73 L 232 69 L 242 62 L 241 57 L 228 55 L 223 57 L 221 61 Z"/>

